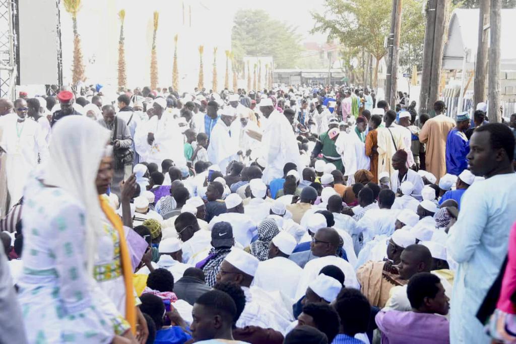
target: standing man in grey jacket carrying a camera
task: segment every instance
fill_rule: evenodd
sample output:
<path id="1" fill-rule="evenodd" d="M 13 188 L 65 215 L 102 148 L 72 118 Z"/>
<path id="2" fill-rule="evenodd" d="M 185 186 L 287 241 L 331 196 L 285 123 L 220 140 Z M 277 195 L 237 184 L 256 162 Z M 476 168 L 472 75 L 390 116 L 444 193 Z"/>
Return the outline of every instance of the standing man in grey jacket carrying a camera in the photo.
<path id="1" fill-rule="evenodd" d="M 111 130 L 110 144 L 113 146 L 115 162 L 115 174 L 111 187 L 117 188 L 120 181 L 125 181 L 133 173 L 133 138 L 125 121 L 115 116 L 115 107 L 112 105 L 102 107 L 102 118 L 97 122 Z M 116 192 L 113 189 L 111 191 Z"/>

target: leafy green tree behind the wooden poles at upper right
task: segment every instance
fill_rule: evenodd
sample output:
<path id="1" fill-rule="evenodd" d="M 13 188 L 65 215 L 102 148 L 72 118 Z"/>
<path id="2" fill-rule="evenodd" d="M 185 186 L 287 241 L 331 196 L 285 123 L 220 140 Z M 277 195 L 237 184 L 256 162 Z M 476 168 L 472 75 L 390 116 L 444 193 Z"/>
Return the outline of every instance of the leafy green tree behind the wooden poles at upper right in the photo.
<path id="1" fill-rule="evenodd" d="M 400 65 L 421 64 L 425 21 L 423 0 L 405 0 L 401 20 Z M 360 47 L 375 59 L 373 87 L 378 83 L 378 65 L 387 53 L 384 39 L 391 29 L 391 0 L 326 0 L 324 13 L 313 13 L 312 32 L 326 32 L 345 47 Z M 361 50 L 355 50 L 359 53 Z M 353 56 L 350 56 L 352 58 Z M 354 56 L 357 57 L 357 56 Z M 410 64 L 410 65 L 409 65 Z"/>

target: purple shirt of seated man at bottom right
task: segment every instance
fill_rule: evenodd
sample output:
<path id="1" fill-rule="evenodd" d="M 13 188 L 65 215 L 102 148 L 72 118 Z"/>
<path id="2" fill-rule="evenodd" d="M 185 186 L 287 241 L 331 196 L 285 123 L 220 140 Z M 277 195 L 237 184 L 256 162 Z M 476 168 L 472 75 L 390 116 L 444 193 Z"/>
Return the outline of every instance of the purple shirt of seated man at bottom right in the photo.
<path id="1" fill-rule="evenodd" d="M 450 342 L 449 322 L 441 315 L 380 310 L 375 320 L 382 332 L 382 344 Z"/>

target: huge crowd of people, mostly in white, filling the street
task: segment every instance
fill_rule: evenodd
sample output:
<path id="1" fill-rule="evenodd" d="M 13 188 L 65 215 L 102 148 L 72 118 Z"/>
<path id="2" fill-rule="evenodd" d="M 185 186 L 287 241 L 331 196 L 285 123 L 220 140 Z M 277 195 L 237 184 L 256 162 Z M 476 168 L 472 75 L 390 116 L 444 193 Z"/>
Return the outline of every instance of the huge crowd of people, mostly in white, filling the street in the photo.
<path id="1" fill-rule="evenodd" d="M 0 99 L 0 342 L 516 340 L 516 114 L 52 90 Z"/>

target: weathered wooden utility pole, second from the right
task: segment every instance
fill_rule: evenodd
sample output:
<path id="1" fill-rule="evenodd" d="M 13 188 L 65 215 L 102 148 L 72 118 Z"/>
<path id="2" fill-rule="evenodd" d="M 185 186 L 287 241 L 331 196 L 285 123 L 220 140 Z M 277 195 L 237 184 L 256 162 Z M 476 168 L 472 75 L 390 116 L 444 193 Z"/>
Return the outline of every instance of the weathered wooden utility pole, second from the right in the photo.
<path id="1" fill-rule="evenodd" d="M 491 0 L 480 2 L 478 15 L 478 45 L 475 60 L 475 83 L 473 86 L 473 108 L 486 101 L 487 52 L 489 47 L 489 12 Z"/>

